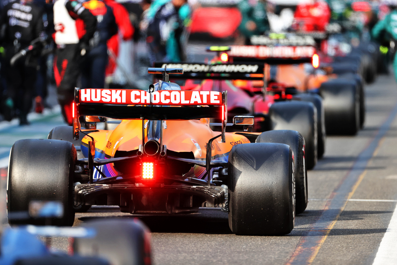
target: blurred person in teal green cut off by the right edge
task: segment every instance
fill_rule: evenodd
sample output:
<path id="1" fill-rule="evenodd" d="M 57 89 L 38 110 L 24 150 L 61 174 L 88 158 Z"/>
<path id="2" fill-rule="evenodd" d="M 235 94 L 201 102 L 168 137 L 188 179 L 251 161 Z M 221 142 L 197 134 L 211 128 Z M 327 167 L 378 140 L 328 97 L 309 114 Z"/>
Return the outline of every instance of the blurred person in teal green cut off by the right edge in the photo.
<path id="1" fill-rule="evenodd" d="M 372 37 L 381 44 L 387 43 L 385 48 L 393 57 L 394 77 L 397 80 L 397 59 L 395 56 L 395 45 L 397 45 L 397 0 L 384 1 L 391 10 L 382 20 L 374 25 L 371 31 Z"/>

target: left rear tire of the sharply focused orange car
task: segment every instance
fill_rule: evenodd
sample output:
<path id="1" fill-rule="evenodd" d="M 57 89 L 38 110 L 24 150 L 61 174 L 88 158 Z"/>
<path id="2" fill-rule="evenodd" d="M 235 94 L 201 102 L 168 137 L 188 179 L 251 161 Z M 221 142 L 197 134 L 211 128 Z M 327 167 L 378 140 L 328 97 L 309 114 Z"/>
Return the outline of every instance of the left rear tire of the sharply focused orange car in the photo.
<path id="1" fill-rule="evenodd" d="M 12 218 L 13 213 L 28 212 L 30 201 L 41 200 L 60 201 L 64 206 L 64 216 L 50 220 L 51 225 L 72 226 L 75 217 L 73 174 L 76 158 L 75 147 L 67 141 L 16 141 L 11 148 L 8 166 L 9 223 L 44 225 L 44 220 Z"/>

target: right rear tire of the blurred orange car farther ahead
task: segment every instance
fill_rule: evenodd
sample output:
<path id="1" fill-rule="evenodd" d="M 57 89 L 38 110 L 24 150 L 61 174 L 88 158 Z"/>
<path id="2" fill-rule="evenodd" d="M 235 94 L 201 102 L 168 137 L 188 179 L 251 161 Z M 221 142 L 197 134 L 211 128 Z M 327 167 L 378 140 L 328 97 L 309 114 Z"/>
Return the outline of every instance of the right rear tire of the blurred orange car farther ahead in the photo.
<path id="1" fill-rule="evenodd" d="M 328 134 L 355 135 L 360 129 L 360 93 L 355 80 L 337 78 L 320 86 Z"/>

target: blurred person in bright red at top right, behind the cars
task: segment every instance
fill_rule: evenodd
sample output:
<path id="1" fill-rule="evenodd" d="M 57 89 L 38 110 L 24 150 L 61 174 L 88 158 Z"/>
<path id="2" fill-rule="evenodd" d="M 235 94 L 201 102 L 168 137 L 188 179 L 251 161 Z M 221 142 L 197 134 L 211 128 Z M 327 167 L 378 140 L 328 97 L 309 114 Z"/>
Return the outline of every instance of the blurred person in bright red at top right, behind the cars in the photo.
<path id="1" fill-rule="evenodd" d="M 325 31 L 330 23 L 331 10 L 323 0 L 311 0 L 307 4 L 299 4 L 294 14 L 294 29 L 299 31 Z"/>

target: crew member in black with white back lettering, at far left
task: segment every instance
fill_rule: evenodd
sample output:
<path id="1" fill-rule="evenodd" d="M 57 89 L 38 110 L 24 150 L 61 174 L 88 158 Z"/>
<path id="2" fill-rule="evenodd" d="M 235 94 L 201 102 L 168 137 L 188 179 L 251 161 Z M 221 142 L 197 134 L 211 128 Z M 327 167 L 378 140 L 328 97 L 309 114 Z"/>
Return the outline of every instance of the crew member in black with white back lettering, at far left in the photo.
<path id="1" fill-rule="evenodd" d="M 8 120 L 12 119 L 15 110 L 20 125 L 28 124 L 27 113 L 32 107 L 37 62 L 34 53 L 30 53 L 26 60 L 17 60 L 13 66 L 10 66 L 10 59 L 33 40 L 38 39 L 42 43 L 46 41 L 43 15 L 42 9 L 31 0 L 19 0 L 9 2 L 0 17 L 1 41 L 6 49 L 6 65 L 2 67 L 6 67 L 8 83 L 4 116 Z M 36 53 L 37 56 L 39 53 Z"/>

